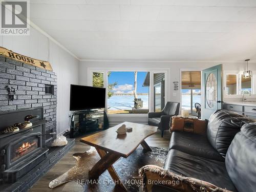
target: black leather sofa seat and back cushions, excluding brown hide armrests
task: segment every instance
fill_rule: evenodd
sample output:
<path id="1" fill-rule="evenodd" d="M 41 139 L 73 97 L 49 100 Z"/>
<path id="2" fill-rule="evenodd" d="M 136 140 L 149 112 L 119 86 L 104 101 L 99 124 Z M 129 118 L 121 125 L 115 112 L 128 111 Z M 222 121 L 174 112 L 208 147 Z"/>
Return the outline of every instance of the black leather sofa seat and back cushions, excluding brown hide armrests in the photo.
<path id="1" fill-rule="evenodd" d="M 227 190 L 255 192 L 256 122 L 219 110 L 211 115 L 206 135 L 173 132 L 164 168 Z M 155 185 L 152 191 L 176 190 Z"/>

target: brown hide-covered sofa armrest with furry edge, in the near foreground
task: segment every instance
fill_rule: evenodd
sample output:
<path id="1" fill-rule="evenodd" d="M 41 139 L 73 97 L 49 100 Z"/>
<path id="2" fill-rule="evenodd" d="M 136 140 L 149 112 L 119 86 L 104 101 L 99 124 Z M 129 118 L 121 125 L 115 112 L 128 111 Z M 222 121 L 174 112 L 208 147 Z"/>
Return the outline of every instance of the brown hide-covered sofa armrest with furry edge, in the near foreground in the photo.
<path id="1" fill-rule="evenodd" d="M 153 185 L 163 185 L 180 192 L 205 191 L 231 192 L 195 178 L 179 176 L 156 165 L 146 165 L 139 169 L 144 192 L 151 192 Z M 171 190 L 172 191 L 172 190 Z"/>

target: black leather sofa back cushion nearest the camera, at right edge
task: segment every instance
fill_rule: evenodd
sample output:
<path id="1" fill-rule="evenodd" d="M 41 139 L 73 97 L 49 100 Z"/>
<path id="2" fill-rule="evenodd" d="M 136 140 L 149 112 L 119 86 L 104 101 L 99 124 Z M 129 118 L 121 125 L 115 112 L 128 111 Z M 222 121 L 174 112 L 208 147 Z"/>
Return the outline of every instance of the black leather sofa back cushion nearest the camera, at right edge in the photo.
<path id="1" fill-rule="evenodd" d="M 228 148 L 225 163 L 239 191 L 256 191 L 256 123 L 242 126 Z"/>

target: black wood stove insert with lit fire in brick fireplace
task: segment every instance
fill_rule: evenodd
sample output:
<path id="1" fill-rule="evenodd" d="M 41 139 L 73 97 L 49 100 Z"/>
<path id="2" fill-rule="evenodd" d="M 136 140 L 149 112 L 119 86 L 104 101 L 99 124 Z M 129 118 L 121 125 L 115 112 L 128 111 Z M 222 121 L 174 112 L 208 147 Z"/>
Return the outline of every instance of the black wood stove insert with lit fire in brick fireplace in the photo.
<path id="1" fill-rule="evenodd" d="M 48 148 L 45 143 L 45 123 L 42 108 L 12 111 L 0 114 L 0 131 L 16 122 L 23 122 L 28 114 L 37 115 L 31 127 L 18 132 L 0 135 L 1 179 L 5 183 L 16 182 L 38 163 L 47 158 Z M 2 122 L 2 121 L 1 121 Z"/>

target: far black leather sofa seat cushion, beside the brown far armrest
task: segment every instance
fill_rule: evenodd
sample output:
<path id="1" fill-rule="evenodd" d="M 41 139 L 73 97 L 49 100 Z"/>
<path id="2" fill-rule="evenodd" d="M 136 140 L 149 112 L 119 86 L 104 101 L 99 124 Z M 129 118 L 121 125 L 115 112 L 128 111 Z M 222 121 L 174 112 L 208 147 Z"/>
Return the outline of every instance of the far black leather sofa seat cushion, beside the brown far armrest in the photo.
<path id="1" fill-rule="evenodd" d="M 225 159 L 208 142 L 206 135 L 186 132 L 173 132 L 170 138 L 169 150 L 204 157 L 207 159 L 225 161 Z"/>

